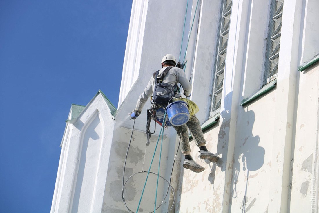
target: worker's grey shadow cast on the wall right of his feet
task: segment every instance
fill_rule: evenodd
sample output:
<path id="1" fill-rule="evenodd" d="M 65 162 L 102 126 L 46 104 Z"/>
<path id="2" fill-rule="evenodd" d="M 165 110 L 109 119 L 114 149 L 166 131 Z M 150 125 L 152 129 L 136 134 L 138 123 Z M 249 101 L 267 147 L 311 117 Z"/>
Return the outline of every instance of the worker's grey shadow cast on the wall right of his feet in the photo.
<path id="1" fill-rule="evenodd" d="M 211 184 L 214 183 L 214 177 L 216 167 L 220 167 L 221 171 L 226 169 L 230 170 L 231 167 L 227 167 L 227 153 L 229 143 L 229 127 L 230 127 L 230 107 L 232 100 L 232 92 L 226 95 L 224 101 L 224 110 L 220 113 L 219 122 L 220 129 L 218 133 L 218 145 L 217 153 L 219 159 L 211 166 L 211 174 L 208 180 Z M 259 136 L 254 136 L 252 133 L 253 125 L 255 122 L 255 113 L 252 110 L 245 111 L 244 109 L 238 113 L 236 122 L 236 138 L 234 146 L 234 158 L 233 158 L 233 178 L 232 189 L 233 196 L 237 196 L 236 184 L 239 172 L 247 170 L 247 181 L 249 179 L 249 171 L 255 171 L 262 167 L 264 163 L 265 149 L 259 146 Z M 240 131 L 238 131 L 240 130 Z M 234 143 L 234 142 L 232 142 Z M 242 168 L 241 168 L 242 162 Z M 235 186 L 234 186 L 235 185 Z M 247 191 L 247 189 L 246 189 Z"/>

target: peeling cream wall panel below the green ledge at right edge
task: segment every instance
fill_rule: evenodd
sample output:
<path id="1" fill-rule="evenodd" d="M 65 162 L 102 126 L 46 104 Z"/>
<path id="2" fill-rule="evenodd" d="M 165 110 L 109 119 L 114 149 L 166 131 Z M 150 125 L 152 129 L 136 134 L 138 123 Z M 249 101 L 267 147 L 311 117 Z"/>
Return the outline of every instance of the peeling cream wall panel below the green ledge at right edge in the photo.
<path id="1" fill-rule="evenodd" d="M 318 211 L 319 65 L 300 74 L 291 175 L 291 211 Z"/>

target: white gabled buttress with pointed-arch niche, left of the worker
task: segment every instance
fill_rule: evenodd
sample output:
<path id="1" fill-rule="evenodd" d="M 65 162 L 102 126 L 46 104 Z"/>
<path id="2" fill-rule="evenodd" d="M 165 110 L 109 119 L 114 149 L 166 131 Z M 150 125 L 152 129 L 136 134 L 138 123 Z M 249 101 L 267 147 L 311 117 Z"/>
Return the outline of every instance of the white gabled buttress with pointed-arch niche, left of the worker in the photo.
<path id="1" fill-rule="evenodd" d="M 99 92 L 67 124 L 51 212 L 100 212 L 114 120 Z"/>

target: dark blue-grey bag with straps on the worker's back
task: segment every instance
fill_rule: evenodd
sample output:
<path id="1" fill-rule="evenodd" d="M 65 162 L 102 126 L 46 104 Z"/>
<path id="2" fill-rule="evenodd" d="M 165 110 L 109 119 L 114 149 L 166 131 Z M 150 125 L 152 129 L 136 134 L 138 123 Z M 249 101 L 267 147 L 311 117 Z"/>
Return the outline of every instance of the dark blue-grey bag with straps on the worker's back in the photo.
<path id="1" fill-rule="evenodd" d="M 153 73 L 155 85 L 153 89 L 153 101 L 159 105 L 168 105 L 170 99 L 178 92 L 177 84 L 172 86 L 170 83 L 163 83 L 163 78 L 173 66 L 167 67 L 162 73 L 159 70 Z"/>

